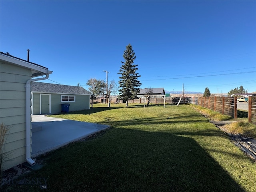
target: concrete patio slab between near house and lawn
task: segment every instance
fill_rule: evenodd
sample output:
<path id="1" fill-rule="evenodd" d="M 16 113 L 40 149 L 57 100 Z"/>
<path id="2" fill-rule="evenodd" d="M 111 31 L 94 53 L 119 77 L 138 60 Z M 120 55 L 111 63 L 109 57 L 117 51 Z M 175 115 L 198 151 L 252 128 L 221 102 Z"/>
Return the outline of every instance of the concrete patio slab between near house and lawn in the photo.
<path id="1" fill-rule="evenodd" d="M 79 140 L 108 125 L 32 115 L 32 157 Z"/>

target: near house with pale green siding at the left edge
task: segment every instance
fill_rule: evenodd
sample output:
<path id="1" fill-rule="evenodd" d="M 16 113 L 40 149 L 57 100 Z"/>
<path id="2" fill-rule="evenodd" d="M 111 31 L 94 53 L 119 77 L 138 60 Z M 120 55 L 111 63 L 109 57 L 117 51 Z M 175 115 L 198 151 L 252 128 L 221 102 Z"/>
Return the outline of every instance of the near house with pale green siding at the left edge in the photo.
<path id="1" fill-rule="evenodd" d="M 3 52 L 0 52 L 0 68 L 0 123 L 9 128 L 1 151 L 2 168 L 6 170 L 23 162 L 34 165 L 31 159 L 30 83 L 47 79 L 52 71 Z"/>

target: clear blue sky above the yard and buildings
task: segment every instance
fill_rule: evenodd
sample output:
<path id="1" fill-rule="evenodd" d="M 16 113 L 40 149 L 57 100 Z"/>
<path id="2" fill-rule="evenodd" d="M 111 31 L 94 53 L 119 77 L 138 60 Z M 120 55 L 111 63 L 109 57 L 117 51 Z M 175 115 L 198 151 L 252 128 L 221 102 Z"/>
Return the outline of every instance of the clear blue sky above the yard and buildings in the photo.
<path id="1" fill-rule="evenodd" d="M 0 51 L 52 70 L 42 82 L 118 84 L 130 43 L 141 88 L 256 91 L 256 1 L 0 1 Z"/>

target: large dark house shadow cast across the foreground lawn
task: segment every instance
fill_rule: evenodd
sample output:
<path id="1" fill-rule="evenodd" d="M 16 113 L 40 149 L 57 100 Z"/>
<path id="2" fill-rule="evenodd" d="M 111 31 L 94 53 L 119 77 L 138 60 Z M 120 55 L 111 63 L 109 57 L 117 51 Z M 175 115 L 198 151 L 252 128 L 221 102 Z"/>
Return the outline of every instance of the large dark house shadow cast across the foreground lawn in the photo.
<path id="1" fill-rule="evenodd" d="M 244 192 L 192 138 L 166 132 L 112 128 L 47 155 L 27 175 L 45 178 L 48 191 Z M 6 191 L 41 191 L 11 185 Z"/>

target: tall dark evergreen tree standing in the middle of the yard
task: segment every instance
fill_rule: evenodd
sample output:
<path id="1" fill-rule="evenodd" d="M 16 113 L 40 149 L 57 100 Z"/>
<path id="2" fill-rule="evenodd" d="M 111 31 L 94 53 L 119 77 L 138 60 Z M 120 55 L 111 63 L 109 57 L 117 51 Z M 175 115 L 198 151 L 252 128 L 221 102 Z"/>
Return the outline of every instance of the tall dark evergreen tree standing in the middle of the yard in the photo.
<path id="1" fill-rule="evenodd" d="M 125 62 L 121 61 L 122 66 L 118 73 L 121 75 L 119 77 L 120 80 L 118 81 L 118 88 L 120 88 L 118 91 L 120 92 L 120 97 L 126 101 L 126 106 L 128 106 L 129 99 L 138 98 L 137 94 L 140 92 L 140 89 L 138 87 L 141 85 L 141 83 L 138 80 L 138 77 L 140 77 L 140 75 L 136 73 L 136 71 L 138 70 L 138 65 L 133 64 L 136 56 L 134 51 L 132 50 L 131 44 L 128 44 L 128 46 L 126 46 L 123 57 Z"/>

